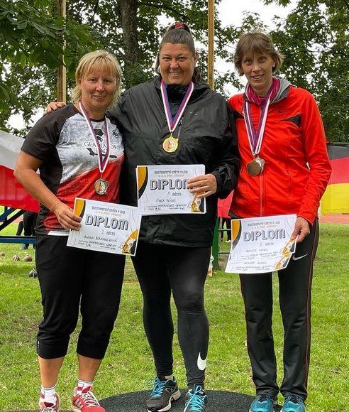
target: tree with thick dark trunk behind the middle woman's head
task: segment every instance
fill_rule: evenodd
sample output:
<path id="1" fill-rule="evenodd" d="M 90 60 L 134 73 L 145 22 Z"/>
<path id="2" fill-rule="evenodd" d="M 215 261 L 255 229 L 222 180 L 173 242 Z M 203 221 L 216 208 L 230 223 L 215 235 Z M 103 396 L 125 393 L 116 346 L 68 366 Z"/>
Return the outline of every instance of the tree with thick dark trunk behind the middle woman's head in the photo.
<path id="1" fill-rule="evenodd" d="M 182 21 L 192 29 L 201 43 L 199 60 L 206 75 L 207 0 L 77 0 L 70 4 L 69 16 L 101 34 L 101 42 L 123 65 L 125 88 L 153 77 L 157 45 L 169 21 Z M 216 18 L 216 57 L 228 56 L 224 45 L 234 38 L 236 29 L 222 28 Z M 219 77 L 218 84 L 224 81 L 238 85 L 229 75 Z"/>

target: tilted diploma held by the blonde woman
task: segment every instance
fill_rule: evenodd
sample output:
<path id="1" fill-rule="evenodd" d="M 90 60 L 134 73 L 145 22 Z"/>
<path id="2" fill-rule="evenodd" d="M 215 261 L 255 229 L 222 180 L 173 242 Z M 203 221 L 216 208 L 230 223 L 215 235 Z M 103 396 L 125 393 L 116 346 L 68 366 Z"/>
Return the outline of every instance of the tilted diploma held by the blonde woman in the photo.
<path id="1" fill-rule="evenodd" d="M 137 207 L 77 197 L 74 212 L 82 226 L 70 230 L 67 246 L 135 255 L 141 219 Z"/>

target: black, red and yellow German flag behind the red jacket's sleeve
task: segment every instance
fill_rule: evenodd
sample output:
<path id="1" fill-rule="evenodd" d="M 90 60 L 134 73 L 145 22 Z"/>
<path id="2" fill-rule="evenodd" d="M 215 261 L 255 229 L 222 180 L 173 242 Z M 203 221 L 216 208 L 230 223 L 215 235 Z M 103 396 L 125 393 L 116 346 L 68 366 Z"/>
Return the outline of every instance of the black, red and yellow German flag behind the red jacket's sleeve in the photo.
<path id="1" fill-rule="evenodd" d="M 321 199 L 321 214 L 349 213 L 349 143 L 328 143 L 332 173 Z"/>

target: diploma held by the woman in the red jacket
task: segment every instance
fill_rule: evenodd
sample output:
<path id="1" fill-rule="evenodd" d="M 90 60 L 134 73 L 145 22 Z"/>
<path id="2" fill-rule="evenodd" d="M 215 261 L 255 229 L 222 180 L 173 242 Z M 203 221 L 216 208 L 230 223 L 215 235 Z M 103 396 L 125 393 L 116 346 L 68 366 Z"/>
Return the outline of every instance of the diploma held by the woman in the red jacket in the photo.
<path id="1" fill-rule="evenodd" d="M 296 251 L 291 240 L 297 215 L 233 219 L 228 273 L 267 273 L 287 267 Z"/>

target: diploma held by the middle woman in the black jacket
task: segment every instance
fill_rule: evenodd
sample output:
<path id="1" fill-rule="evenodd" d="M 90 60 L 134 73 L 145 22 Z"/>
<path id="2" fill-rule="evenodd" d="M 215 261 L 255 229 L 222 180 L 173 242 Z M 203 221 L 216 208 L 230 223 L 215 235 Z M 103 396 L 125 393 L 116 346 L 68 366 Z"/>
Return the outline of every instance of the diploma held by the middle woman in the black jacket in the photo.
<path id="1" fill-rule="evenodd" d="M 206 199 L 187 189 L 187 180 L 205 174 L 204 165 L 138 166 L 136 173 L 141 215 L 206 213 Z"/>

